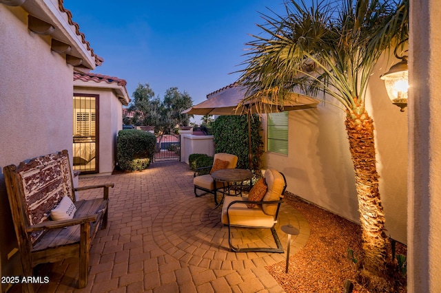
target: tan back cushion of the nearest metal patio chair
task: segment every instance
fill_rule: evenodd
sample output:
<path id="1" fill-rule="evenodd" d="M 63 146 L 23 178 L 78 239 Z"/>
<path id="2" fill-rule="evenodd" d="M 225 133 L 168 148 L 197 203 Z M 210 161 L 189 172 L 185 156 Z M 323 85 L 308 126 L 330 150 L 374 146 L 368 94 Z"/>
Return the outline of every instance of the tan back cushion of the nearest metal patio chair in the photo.
<path id="1" fill-rule="evenodd" d="M 275 169 L 267 169 L 265 171 L 265 182 L 268 186 L 268 191 L 263 197 L 264 202 L 269 202 L 273 200 L 279 200 L 283 197 L 282 192 L 285 187 L 285 180 L 283 180 L 282 174 L 280 174 Z M 263 204 L 262 209 L 267 215 L 274 216 L 276 214 L 277 205 L 276 204 Z"/>

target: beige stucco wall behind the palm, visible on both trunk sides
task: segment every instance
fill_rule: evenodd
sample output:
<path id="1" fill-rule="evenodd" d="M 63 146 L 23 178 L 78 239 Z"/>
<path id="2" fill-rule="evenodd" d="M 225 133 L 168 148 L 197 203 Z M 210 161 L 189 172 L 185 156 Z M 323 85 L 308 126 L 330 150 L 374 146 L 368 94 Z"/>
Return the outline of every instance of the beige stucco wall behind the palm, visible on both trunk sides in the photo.
<path id="1" fill-rule="evenodd" d="M 371 78 L 367 110 L 376 127 L 377 166 L 387 234 L 407 243 L 407 113 L 400 113 L 387 98 L 379 78 L 387 71 L 384 70 L 387 64 L 381 65 Z M 327 98 L 327 101 L 333 100 Z M 329 103 L 320 103 L 317 109 L 290 111 L 288 155 L 265 153 L 264 168 L 282 171 L 287 177 L 287 191 L 359 222 L 344 120 L 345 113 Z"/>

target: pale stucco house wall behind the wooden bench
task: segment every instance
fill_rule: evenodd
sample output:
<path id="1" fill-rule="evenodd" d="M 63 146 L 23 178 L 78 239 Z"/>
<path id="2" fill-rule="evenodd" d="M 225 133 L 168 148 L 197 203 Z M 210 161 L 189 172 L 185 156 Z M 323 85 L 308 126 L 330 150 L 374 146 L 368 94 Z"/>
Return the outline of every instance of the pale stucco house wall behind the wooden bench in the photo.
<path id="1" fill-rule="evenodd" d="M 15 14 L 15 16 L 14 16 Z M 50 39 L 28 31 L 21 8 L 0 4 L 0 167 L 62 149 L 72 152 L 72 67 Z M 19 274 L 3 171 L 0 171 L 1 274 Z M 4 289 L 4 288 L 3 288 Z"/>

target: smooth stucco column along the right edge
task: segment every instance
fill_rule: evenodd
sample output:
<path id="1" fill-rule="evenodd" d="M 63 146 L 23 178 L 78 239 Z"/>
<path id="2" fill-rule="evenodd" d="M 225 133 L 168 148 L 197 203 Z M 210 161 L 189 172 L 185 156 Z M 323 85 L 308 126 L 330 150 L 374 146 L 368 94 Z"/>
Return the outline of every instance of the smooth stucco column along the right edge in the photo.
<path id="1" fill-rule="evenodd" d="M 441 292 L 441 6 L 410 2 L 407 289 Z"/>

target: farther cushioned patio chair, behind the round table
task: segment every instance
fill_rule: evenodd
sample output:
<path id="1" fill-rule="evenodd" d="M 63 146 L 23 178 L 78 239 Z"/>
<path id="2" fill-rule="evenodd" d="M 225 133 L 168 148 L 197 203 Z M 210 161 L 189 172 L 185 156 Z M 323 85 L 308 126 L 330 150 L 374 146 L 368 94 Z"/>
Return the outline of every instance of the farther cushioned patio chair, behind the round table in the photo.
<path id="1" fill-rule="evenodd" d="M 218 161 L 216 162 L 216 160 Z M 236 168 L 237 161 L 237 155 L 231 155 L 229 153 L 215 153 L 212 166 L 201 167 L 196 169 L 196 172 L 194 172 L 194 195 L 196 195 L 196 197 L 200 197 L 201 195 L 205 195 L 206 193 L 211 193 L 212 195 L 214 195 L 214 199 L 216 199 L 216 194 L 214 191 L 214 180 L 212 175 L 200 175 L 200 173 L 203 173 L 204 170 L 207 171 L 209 169 L 211 169 L 210 173 L 219 169 L 234 169 Z M 216 191 L 223 191 L 223 188 L 226 187 L 227 186 L 225 186 L 225 183 L 216 182 Z M 198 190 L 203 191 L 203 193 L 198 194 Z"/>

